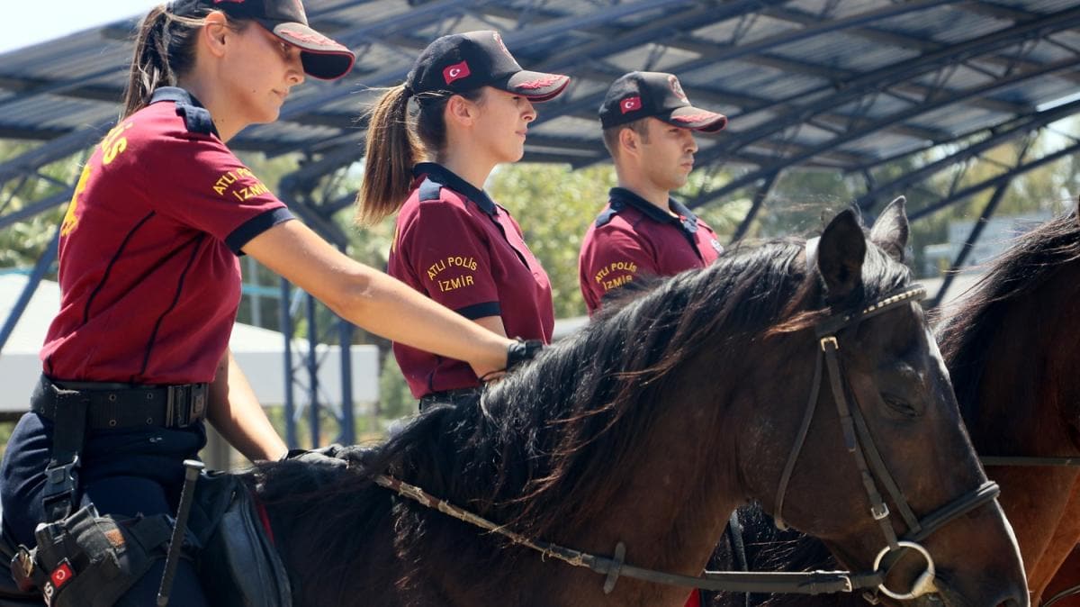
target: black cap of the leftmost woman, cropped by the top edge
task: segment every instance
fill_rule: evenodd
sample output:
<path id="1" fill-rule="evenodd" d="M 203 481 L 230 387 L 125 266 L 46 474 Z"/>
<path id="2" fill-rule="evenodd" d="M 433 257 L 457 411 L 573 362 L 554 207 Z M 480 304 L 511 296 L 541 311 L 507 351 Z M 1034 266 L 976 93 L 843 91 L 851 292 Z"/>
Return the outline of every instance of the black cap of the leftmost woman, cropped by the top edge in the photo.
<path id="1" fill-rule="evenodd" d="M 300 62 L 308 76 L 336 80 L 349 73 L 356 60 L 356 55 L 343 44 L 308 26 L 300 0 L 176 0 L 170 11 L 174 15 L 185 15 L 200 6 L 221 11 L 230 17 L 255 21 L 300 49 Z"/>

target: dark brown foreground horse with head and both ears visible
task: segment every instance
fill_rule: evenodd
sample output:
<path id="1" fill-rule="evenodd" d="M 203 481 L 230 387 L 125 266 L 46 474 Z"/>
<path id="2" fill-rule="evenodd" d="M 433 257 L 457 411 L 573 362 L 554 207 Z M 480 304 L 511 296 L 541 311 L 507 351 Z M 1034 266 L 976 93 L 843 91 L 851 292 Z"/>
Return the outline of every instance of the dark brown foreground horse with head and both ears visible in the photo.
<path id="1" fill-rule="evenodd" d="M 853 212 L 838 215 L 809 264 L 801 241 L 739 247 L 612 306 L 489 388 L 482 404 L 427 409 L 365 457 L 347 457 L 348 468 L 260 467 L 249 481 L 296 604 L 680 606 L 686 589 L 626 578 L 605 594 L 602 576 L 426 509 L 373 477 L 392 474 L 527 538 L 594 554 L 621 542 L 627 564 L 693 575 L 737 505 L 775 495 L 829 339 L 839 346 L 843 394 L 826 380 L 811 399 L 820 406 L 785 515 L 848 566 L 872 569 L 885 540 L 845 448 L 836 396 L 859 409 L 915 512 L 955 503 L 986 482 L 917 305 L 903 300 L 814 335 L 826 319 L 862 318 L 859 310 L 908 288 L 896 260 L 906 238 L 893 206 L 869 240 Z M 947 604 L 1027 604 L 996 502 L 924 547 Z M 897 567 L 889 583 L 909 588 L 920 571 Z"/>

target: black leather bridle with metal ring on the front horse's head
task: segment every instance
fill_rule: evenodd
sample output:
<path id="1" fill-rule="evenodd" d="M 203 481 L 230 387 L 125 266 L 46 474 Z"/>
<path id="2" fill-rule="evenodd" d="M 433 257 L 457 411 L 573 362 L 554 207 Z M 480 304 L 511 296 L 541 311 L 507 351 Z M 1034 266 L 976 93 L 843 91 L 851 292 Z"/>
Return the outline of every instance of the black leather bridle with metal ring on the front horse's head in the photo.
<path id="1" fill-rule="evenodd" d="M 843 430 L 843 445 L 854 457 L 855 466 L 859 469 L 859 474 L 863 483 L 863 488 L 866 489 L 866 496 L 869 498 L 870 516 L 878 522 L 887 543 L 881 552 L 878 553 L 874 563 L 874 569 L 879 570 L 881 562 L 885 557 L 889 553 L 901 549 L 914 550 L 915 552 L 918 552 L 927 562 L 926 569 L 915 581 L 915 584 L 908 592 L 893 592 L 886 588 L 883 582 L 880 586 L 878 586 L 881 593 L 899 601 L 915 598 L 935 590 L 933 583 L 933 558 L 931 558 L 930 553 L 918 542 L 924 540 L 931 534 L 954 518 L 962 516 L 972 510 L 993 501 L 1000 493 L 997 483 L 987 481 L 986 483 L 980 485 L 976 489 L 966 493 L 959 498 L 948 502 L 944 507 L 920 520 L 912 511 L 912 507 L 907 502 L 907 497 L 904 495 L 904 491 L 901 490 L 892 474 L 889 473 L 889 469 L 885 464 L 885 460 L 881 458 L 881 453 L 874 443 L 874 437 L 870 435 L 869 429 L 866 426 L 866 420 L 859 406 L 859 400 L 852 397 L 852 401 L 855 404 L 854 407 L 848 404 L 847 385 L 843 381 L 839 356 L 837 355 L 837 352 L 840 350 L 838 334 L 842 329 L 858 325 L 866 319 L 888 312 L 894 308 L 908 306 L 909 304 L 918 301 L 926 296 L 926 288 L 921 285 L 912 285 L 876 301 L 859 312 L 841 313 L 828 316 L 814 327 L 820 348 L 819 354 L 815 358 L 816 362 L 814 364 L 813 382 L 810 389 L 810 400 L 807 402 L 807 407 L 802 415 L 802 424 L 799 427 L 798 434 L 795 436 L 795 444 L 792 445 L 792 453 L 787 457 L 787 462 L 784 464 L 784 471 L 780 476 L 780 486 L 777 489 L 777 505 L 773 514 L 777 526 L 781 529 L 786 529 L 787 527 L 783 521 L 784 497 L 787 493 L 787 484 L 791 481 L 792 471 L 795 469 L 795 462 L 798 460 L 799 453 L 802 450 L 802 444 L 806 442 L 807 433 L 810 430 L 810 422 L 813 420 L 814 410 L 818 407 L 818 396 L 821 392 L 822 360 L 824 359 L 825 368 L 828 369 L 828 381 L 833 390 L 833 400 L 836 403 L 836 410 L 840 417 L 840 427 Z M 896 537 L 896 531 L 892 526 L 892 513 L 889 511 L 889 507 L 881 498 L 881 493 L 878 490 L 875 477 L 881 483 L 881 485 L 885 486 L 886 490 L 892 497 L 893 504 L 896 510 L 900 511 L 900 515 L 904 520 L 904 524 L 907 526 L 907 534 L 904 535 L 903 538 Z M 882 579 L 883 577 L 885 576 L 882 576 Z"/>

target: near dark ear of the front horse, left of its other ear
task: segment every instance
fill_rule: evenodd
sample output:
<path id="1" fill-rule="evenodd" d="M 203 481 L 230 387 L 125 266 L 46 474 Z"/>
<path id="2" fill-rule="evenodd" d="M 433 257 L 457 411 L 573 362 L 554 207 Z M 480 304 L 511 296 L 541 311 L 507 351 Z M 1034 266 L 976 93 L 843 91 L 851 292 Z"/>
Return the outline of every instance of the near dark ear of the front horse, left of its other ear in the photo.
<path id="1" fill-rule="evenodd" d="M 863 281 L 866 237 L 855 212 L 848 208 L 828 222 L 818 243 L 818 270 L 829 299 L 841 299 Z"/>

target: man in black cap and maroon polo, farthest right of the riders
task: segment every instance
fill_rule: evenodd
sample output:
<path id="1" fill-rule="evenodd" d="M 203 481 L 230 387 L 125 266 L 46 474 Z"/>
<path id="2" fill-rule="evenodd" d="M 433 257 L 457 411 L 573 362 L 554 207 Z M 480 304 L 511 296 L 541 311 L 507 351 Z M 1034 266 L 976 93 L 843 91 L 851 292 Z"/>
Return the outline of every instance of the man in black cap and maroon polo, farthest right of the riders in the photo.
<path id="1" fill-rule="evenodd" d="M 702 268 L 724 251 L 670 192 L 693 168 L 692 131 L 718 132 L 727 117 L 691 106 L 675 76 L 654 71 L 616 80 L 599 113 L 619 187 L 581 244 L 579 281 L 590 314 L 605 294 L 638 276 Z"/>

